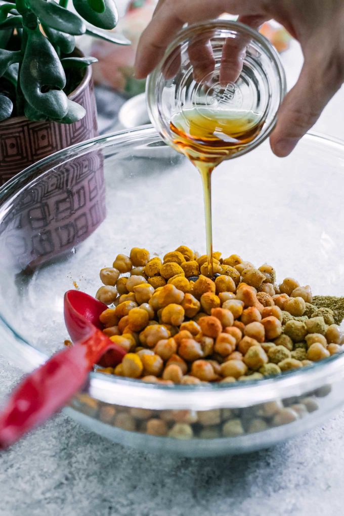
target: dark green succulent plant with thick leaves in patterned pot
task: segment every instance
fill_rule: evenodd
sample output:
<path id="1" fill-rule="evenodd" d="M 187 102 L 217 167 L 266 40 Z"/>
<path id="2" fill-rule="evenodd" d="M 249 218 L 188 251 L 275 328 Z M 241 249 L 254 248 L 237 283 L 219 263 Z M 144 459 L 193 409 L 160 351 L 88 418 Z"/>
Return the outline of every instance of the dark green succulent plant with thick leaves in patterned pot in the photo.
<path id="1" fill-rule="evenodd" d="M 118 22 L 113 0 L 73 0 L 73 5 L 78 14 L 68 10 L 68 0 L 0 0 L 0 121 L 25 115 L 72 123 L 85 116 L 83 106 L 68 98 L 73 89 L 68 78 L 73 73 L 80 78 L 80 69 L 96 59 L 72 54 L 75 36 L 129 42 L 99 30 Z"/>

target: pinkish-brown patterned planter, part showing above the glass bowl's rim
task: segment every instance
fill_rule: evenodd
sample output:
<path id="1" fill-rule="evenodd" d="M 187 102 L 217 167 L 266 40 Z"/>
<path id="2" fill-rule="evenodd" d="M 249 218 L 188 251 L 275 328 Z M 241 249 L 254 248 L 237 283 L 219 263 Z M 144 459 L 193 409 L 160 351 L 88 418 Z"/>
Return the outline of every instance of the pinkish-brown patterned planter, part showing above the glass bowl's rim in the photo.
<path id="1" fill-rule="evenodd" d="M 74 124 L 31 122 L 25 117 L 0 122 L 0 185 L 39 159 L 97 136 L 97 112 L 90 67 L 69 98 L 86 109 L 85 117 Z"/>

